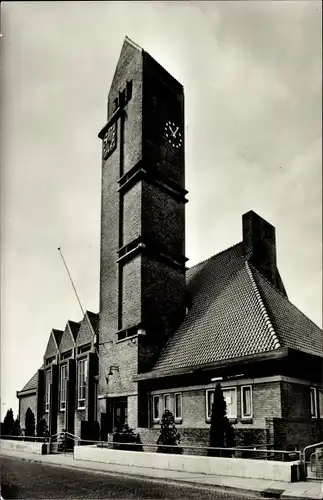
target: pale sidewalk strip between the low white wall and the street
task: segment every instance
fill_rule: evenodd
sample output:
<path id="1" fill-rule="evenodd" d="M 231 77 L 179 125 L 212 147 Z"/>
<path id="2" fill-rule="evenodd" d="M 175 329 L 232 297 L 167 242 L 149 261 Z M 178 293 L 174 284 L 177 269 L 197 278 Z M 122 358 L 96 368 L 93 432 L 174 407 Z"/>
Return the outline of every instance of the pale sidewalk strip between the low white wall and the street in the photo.
<path id="1" fill-rule="evenodd" d="M 322 500 L 323 485 L 319 482 L 282 483 L 280 481 L 267 481 L 261 479 L 245 479 L 229 476 L 215 476 L 206 474 L 190 474 L 180 471 L 165 471 L 152 468 L 136 467 L 135 465 L 112 465 L 85 460 L 74 460 L 72 454 L 58 455 L 36 455 L 19 451 L 7 451 L 1 453 L 3 456 L 19 458 L 23 460 L 46 463 L 49 465 L 80 469 L 94 473 L 113 474 L 118 476 L 140 477 L 142 480 L 158 481 L 167 483 L 180 482 L 200 487 L 218 487 L 222 490 L 230 490 L 253 497 L 266 497 L 265 490 L 276 490 L 281 492 L 280 499 L 286 500 Z M 269 495 L 268 495 L 269 496 Z"/>

